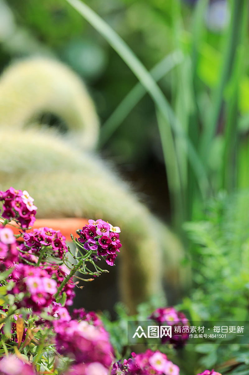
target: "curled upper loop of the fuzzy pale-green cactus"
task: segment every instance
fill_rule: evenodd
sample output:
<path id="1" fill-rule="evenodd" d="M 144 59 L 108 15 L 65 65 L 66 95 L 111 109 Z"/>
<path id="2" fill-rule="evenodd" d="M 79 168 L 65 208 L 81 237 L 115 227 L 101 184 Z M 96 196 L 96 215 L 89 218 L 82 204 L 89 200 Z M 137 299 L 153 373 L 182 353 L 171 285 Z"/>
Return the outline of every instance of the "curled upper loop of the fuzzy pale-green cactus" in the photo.
<path id="1" fill-rule="evenodd" d="M 71 138 L 84 150 L 94 147 L 99 120 L 77 75 L 46 58 L 23 60 L 7 68 L 0 78 L 0 128 L 22 129 L 42 111 L 63 118 Z"/>

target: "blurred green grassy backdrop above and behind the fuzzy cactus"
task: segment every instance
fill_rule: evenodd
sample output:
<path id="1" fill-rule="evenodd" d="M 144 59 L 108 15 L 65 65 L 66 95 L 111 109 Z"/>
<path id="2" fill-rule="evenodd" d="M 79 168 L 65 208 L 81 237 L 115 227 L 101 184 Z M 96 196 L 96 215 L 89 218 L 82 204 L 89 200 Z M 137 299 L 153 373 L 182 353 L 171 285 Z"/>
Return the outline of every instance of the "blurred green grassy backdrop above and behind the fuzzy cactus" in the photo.
<path id="1" fill-rule="evenodd" d="M 82 17 L 73 8 L 79 4 L 1 1 L 1 67 L 13 58 L 42 54 L 80 74 L 102 120 L 103 156 L 114 159 L 148 196 L 152 210 L 177 229 L 198 212 L 200 197 L 248 187 L 247 1 L 86 2 L 152 69 L 163 92 L 160 96 L 148 81 L 156 111 L 144 87 L 101 36 L 105 26 L 99 24 L 98 33 L 84 20 L 87 10 Z M 98 22 L 95 15 L 89 21 Z M 134 61 L 126 58 L 136 71 Z M 144 84 L 146 72 L 140 73 Z M 58 122 L 51 114 L 41 117 Z"/>

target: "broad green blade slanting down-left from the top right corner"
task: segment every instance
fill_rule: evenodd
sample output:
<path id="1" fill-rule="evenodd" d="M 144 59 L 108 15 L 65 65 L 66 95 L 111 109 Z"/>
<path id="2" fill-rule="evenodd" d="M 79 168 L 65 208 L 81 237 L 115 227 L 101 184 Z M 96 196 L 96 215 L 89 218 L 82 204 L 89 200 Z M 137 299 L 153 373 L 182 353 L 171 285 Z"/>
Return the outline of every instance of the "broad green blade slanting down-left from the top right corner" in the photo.
<path id="1" fill-rule="evenodd" d="M 233 69 L 243 12 L 247 12 L 246 6 L 246 0 L 233 0 L 232 17 L 228 37 L 226 40 L 225 51 L 223 53 L 223 63 L 220 71 L 220 80 L 213 93 L 213 110 L 211 111 L 210 116 L 207 120 L 207 124 L 205 126 L 201 141 L 201 156 L 204 162 L 207 161 L 208 150 L 210 149 L 210 145 L 216 131 L 216 126 L 222 108 L 225 86 Z"/>

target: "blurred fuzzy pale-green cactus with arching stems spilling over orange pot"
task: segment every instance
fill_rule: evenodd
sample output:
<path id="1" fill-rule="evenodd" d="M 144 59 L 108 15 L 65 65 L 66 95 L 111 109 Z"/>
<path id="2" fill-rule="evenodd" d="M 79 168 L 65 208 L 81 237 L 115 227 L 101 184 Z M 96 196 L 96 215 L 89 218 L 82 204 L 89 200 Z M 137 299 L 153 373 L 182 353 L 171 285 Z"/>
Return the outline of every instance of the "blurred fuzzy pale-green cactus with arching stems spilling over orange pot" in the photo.
<path id="1" fill-rule="evenodd" d="M 26 127 L 44 110 L 63 118 L 70 136 Z M 86 152 L 97 133 L 98 117 L 85 87 L 62 64 L 27 60 L 1 77 L 0 189 L 28 190 L 39 208 L 37 217 L 103 217 L 120 226 L 120 291 L 133 311 L 137 303 L 162 293 L 164 271 L 168 285 L 180 287 L 183 249 L 129 186 Z"/>

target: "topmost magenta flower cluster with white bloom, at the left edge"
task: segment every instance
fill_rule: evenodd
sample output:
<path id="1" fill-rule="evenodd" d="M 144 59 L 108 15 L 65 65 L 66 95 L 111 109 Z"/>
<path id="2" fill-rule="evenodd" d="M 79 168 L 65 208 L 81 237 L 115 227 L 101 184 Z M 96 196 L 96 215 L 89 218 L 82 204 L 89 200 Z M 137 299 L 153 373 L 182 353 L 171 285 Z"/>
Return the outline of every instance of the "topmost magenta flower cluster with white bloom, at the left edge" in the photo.
<path id="1" fill-rule="evenodd" d="M 16 190 L 10 187 L 5 192 L 0 191 L 0 201 L 3 201 L 1 216 L 4 219 L 13 219 L 24 229 L 34 224 L 37 207 L 26 190 Z"/>

